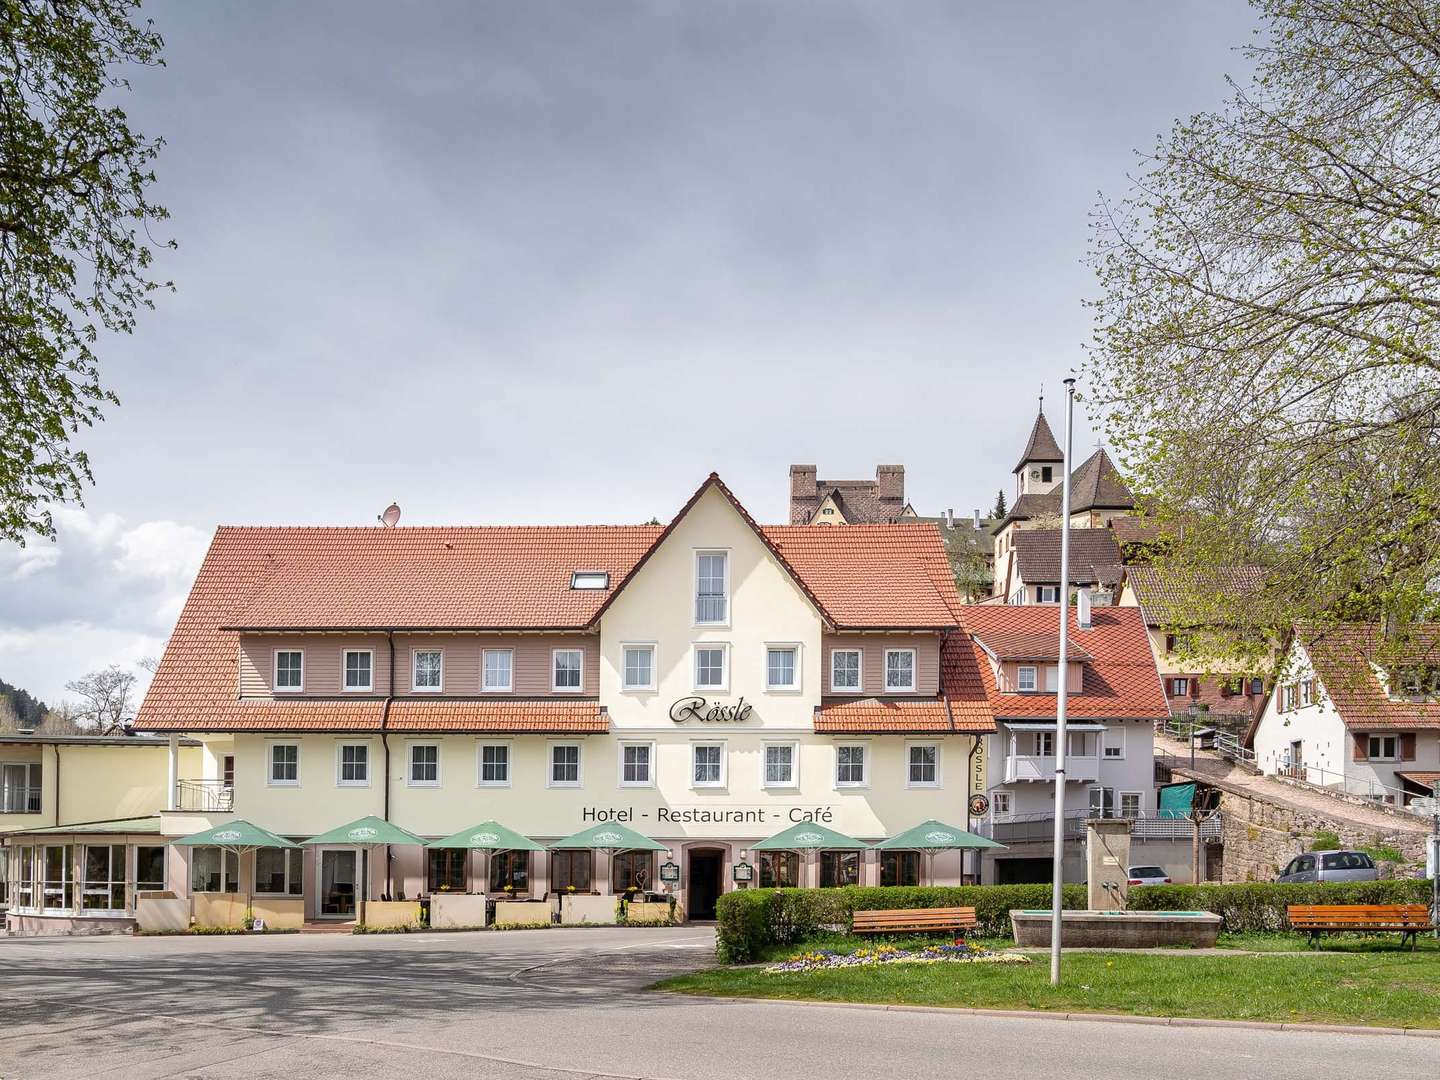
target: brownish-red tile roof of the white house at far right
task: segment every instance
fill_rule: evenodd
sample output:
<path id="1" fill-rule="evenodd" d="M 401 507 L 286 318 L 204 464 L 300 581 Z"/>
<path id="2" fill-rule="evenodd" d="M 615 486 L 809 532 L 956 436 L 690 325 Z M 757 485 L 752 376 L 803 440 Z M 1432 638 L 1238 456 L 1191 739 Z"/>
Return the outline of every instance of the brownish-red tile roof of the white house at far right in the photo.
<path id="1" fill-rule="evenodd" d="M 1440 729 L 1440 701 L 1392 700 L 1371 667 L 1440 667 L 1440 622 L 1407 626 L 1400 641 L 1387 641 L 1378 625 L 1362 622 L 1300 629 L 1299 635 L 1348 729 Z"/>

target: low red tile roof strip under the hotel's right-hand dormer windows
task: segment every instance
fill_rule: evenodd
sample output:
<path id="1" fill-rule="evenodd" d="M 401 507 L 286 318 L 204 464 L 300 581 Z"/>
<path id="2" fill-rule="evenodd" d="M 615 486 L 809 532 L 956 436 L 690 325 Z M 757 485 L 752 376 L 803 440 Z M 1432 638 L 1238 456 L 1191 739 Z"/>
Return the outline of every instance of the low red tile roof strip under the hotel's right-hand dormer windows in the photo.
<path id="1" fill-rule="evenodd" d="M 966 635 L 955 632 L 940 651 L 940 697 L 834 698 L 815 710 L 821 734 L 955 734 L 995 730 L 975 652 Z"/>

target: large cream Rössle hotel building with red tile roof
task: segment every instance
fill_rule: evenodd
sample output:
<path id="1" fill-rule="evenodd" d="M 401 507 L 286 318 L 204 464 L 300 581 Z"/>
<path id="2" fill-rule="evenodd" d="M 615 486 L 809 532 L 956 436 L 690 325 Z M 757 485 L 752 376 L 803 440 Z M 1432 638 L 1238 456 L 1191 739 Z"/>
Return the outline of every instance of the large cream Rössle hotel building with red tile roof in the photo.
<path id="1" fill-rule="evenodd" d="M 665 527 L 220 528 L 135 721 L 202 747 L 164 835 L 613 822 L 664 851 L 174 848 L 170 888 L 344 920 L 366 893 L 608 894 L 661 865 L 690 917 L 737 881 L 914 883 L 919 852 L 752 848 L 969 825 L 994 720 L 960 613 L 935 524 L 762 527 L 713 474 Z"/>

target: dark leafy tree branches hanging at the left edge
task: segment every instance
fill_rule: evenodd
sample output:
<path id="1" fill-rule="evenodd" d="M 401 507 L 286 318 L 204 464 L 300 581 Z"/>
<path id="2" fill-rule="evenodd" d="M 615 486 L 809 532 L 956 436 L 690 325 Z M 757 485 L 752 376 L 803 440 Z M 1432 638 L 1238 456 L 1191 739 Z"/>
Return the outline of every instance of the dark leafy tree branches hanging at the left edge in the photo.
<path id="1" fill-rule="evenodd" d="M 132 0 L 0 0 L 0 537 L 53 536 L 46 504 L 94 482 L 72 444 L 118 403 L 96 343 L 150 294 L 161 140 L 112 104 L 161 39 Z"/>

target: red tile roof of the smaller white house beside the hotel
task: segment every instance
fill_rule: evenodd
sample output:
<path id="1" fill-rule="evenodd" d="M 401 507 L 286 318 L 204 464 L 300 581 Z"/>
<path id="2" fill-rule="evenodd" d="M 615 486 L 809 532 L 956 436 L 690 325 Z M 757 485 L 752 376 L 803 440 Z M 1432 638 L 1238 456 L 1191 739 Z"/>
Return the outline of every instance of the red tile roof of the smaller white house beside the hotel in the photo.
<path id="1" fill-rule="evenodd" d="M 1058 642 L 1060 609 L 1048 605 L 976 603 L 963 609 L 960 621 L 979 639 L 996 634 L 1045 635 Z M 1070 612 L 1070 641 L 1090 655 L 1079 694 L 1067 696 L 1067 716 L 1094 720 L 1145 719 L 1169 714 L 1149 636 L 1138 608 L 1096 608 L 1093 628 L 1081 629 Z M 1002 694 L 995 685 L 995 668 L 979 642 L 975 658 L 996 720 L 1051 719 L 1054 694 Z"/>

